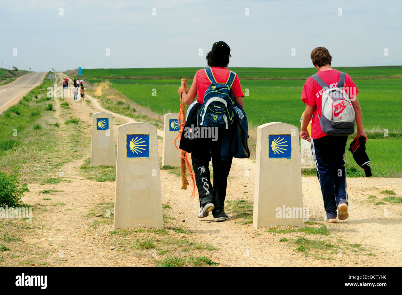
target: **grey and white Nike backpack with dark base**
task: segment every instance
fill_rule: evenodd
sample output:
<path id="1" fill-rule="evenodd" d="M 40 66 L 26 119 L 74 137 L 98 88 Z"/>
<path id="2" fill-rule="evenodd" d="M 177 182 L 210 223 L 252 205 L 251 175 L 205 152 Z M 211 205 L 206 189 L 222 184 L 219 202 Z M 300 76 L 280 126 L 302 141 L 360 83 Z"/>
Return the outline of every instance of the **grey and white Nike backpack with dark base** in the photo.
<path id="1" fill-rule="evenodd" d="M 355 133 L 355 110 L 351 100 L 343 89 L 345 73 L 340 72 L 338 85 L 330 87 L 317 74 L 311 76 L 322 87 L 322 110 L 320 118 L 324 133 L 346 136 Z"/>

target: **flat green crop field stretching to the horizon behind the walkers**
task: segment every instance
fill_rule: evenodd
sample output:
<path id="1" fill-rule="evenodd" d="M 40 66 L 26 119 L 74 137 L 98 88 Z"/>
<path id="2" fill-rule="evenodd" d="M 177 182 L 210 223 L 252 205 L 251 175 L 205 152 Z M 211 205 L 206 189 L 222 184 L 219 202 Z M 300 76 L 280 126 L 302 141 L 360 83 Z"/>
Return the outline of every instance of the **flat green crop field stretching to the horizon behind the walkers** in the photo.
<path id="1" fill-rule="evenodd" d="M 240 77 L 242 89 L 248 89 L 244 108 L 251 128 L 267 122 L 300 125 L 304 111 L 301 89 L 314 68 L 231 68 Z M 371 139 L 367 154 L 373 174 L 402 177 L 402 103 L 398 90 L 402 67 L 338 68 L 355 81 L 363 110 L 365 132 Z M 83 69 L 84 80 L 111 86 L 129 99 L 159 114 L 178 112 L 177 88 L 180 78 L 192 78 L 197 68 Z M 248 78 L 242 78 L 248 77 Z M 189 85 L 192 80 L 189 79 Z M 156 96 L 152 90 L 156 89 Z M 384 136 L 388 130 L 388 136 Z M 353 136 L 351 136 L 353 138 Z M 349 141 L 350 142 L 350 141 Z M 347 163 L 360 171 L 349 151 Z"/>

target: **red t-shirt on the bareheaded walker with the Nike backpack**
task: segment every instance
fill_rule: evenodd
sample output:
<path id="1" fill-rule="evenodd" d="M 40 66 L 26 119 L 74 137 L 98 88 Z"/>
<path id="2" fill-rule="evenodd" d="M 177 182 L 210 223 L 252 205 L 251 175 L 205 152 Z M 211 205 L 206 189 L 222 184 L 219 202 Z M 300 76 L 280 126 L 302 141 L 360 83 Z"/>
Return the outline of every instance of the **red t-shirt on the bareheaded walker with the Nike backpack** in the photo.
<path id="1" fill-rule="evenodd" d="M 329 87 L 335 87 L 338 85 L 340 72 L 335 69 L 331 70 L 323 70 L 317 72 L 318 76 L 328 84 Z M 344 89 L 346 93 L 349 95 L 349 98 L 353 98 L 357 95 L 359 90 L 355 83 L 353 83 L 351 77 L 348 74 L 345 74 L 345 84 Z M 328 134 L 322 132 L 320 126 L 320 120 L 317 116 L 318 113 L 321 116 L 322 111 L 322 87 L 318 85 L 318 83 L 311 77 L 308 77 L 306 83 L 303 86 L 303 92 L 301 93 L 301 100 L 314 107 L 313 112 L 313 121 L 311 123 L 311 138 L 318 139 L 322 136 L 326 136 Z"/>

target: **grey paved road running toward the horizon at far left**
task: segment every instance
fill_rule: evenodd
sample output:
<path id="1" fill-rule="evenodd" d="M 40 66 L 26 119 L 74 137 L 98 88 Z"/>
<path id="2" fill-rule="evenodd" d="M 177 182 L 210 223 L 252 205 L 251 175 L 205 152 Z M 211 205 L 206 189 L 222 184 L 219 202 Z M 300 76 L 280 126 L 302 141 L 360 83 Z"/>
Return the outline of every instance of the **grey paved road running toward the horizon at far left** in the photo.
<path id="1" fill-rule="evenodd" d="M 17 103 L 32 88 L 38 86 L 45 75 L 46 72 L 32 72 L 21 76 L 12 83 L 0 86 L 0 112 Z"/>

